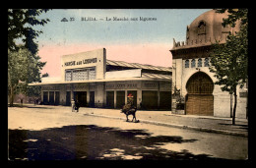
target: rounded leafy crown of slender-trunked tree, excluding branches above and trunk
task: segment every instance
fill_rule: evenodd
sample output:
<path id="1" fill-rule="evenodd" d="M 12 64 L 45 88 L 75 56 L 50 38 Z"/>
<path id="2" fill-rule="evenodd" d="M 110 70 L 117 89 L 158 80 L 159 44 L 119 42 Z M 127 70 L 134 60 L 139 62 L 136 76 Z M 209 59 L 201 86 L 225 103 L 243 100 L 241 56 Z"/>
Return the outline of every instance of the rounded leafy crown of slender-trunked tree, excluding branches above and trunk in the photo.
<path id="1" fill-rule="evenodd" d="M 211 72 L 218 79 L 216 84 L 223 85 L 222 90 L 234 93 L 237 85 L 242 87 L 248 79 L 248 54 L 247 45 L 243 44 L 246 37 L 228 35 L 224 44 L 214 44 L 211 57 Z"/>

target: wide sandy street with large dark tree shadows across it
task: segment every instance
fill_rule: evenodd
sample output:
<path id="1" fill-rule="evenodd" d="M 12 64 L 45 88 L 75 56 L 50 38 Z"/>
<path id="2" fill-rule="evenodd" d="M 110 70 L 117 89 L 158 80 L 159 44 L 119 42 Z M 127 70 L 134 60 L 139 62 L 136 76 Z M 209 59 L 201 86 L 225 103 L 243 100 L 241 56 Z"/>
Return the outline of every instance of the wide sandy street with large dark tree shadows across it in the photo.
<path id="1" fill-rule="evenodd" d="M 90 116 L 68 107 L 8 107 L 10 160 L 247 159 L 248 139 Z M 130 116 L 131 117 L 131 116 Z"/>

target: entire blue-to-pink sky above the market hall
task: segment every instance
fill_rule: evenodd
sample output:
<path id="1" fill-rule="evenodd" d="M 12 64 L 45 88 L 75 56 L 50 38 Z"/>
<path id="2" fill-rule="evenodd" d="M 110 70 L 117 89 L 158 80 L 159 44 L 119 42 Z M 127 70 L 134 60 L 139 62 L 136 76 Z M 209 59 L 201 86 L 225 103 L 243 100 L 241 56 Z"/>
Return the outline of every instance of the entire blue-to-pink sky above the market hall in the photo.
<path id="1" fill-rule="evenodd" d="M 106 59 L 171 67 L 169 50 L 184 41 L 186 27 L 211 9 L 53 9 L 35 41 L 47 62 L 41 74 L 60 77 L 62 55 L 106 49 Z M 143 19 L 148 19 L 147 21 Z M 63 22 L 63 21 L 67 22 Z M 94 21 L 96 20 L 96 21 Z"/>

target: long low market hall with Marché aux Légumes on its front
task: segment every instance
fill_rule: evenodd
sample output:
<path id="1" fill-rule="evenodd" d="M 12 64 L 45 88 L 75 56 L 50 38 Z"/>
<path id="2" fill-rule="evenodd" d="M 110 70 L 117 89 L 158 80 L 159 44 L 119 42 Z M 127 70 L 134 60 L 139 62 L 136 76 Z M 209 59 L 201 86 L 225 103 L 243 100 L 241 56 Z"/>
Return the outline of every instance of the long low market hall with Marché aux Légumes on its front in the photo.
<path id="1" fill-rule="evenodd" d="M 60 78 L 30 84 L 44 104 L 121 108 L 131 93 L 138 109 L 171 110 L 171 68 L 107 60 L 105 48 L 64 55 L 60 66 Z"/>

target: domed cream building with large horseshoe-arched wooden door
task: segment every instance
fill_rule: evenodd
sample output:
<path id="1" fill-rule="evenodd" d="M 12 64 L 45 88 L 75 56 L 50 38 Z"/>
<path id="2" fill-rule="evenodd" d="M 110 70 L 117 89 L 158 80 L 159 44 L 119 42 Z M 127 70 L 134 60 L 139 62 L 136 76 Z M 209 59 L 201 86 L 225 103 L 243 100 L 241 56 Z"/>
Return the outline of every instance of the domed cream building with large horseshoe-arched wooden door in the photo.
<path id="1" fill-rule="evenodd" d="M 224 43 L 226 36 L 239 30 L 224 28 L 223 19 L 227 14 L 208 11 L 196 18 L 186 29 L 186 40 L 176 42 L 173 39 L 172 84 L 184 97 L 183 114 L 231 117 L 233 96 L 224 92 L 221 86 L 214 84 L 217 79 L 209 70 L 211 45 L 216 41 Z M 237 87 L 236 117 L 246 118 L 247 87 Z M 172 110 L 175 113 L 175 110 Z"/>

